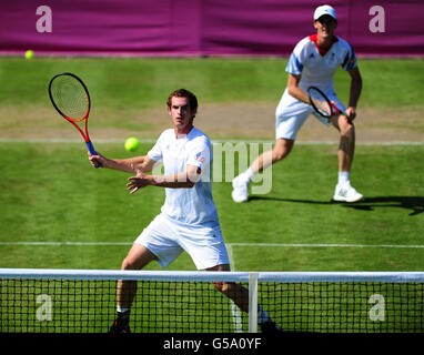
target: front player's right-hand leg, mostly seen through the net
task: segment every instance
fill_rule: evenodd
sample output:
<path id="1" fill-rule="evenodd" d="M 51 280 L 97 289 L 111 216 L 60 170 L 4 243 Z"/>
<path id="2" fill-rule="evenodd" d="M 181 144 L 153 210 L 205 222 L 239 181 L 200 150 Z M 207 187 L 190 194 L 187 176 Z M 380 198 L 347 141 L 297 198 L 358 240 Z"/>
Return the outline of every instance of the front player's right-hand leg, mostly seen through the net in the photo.
<path id="1" fill-rule="evenodd" d="M 208 271 L 230 271 L 230 264 L 216 265 L 209 267 Z M 215 288 L 222 292 L 226 297 L 231 298 L 235 305 L 243 312 L 249 312 L 249 290 L 235 282 L 214 282 Z M 281 327 L 271 320 L 267 313 L 258 307 L 258 324 L 263 333 L 281 332 Z"/>

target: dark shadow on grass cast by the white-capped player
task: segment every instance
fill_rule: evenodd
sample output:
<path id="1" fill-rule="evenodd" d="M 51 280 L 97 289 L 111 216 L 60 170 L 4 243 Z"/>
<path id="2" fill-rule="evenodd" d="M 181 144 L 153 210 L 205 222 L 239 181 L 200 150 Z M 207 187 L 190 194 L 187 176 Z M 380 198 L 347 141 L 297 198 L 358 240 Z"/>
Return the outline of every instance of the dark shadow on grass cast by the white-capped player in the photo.
<path id="1" fill-rule="evenodd" d="M 355 203 L 336 202 L 330 201 L 313 201 L 313 200 L 295 200 L 295 199 L 281 199 L 271 196 L 260 196 L 253 195 L 249 197 L 249 201 L 277 201 L 277 202 L 289 202 L 289 203 L 307 203 L 307 204 L 320 204 L 320 205 L 334 205 L 339 204 L 343 207 L 354 209 L 360 211 L 374 211 L 376 207 L 387 209 L 405 209 L 412 211 L 408 215 L 417 215 L 424 213 L 424 197 L 421 196 L 377 196 L 377 197 L 366 197 L 362 201 Z"/>

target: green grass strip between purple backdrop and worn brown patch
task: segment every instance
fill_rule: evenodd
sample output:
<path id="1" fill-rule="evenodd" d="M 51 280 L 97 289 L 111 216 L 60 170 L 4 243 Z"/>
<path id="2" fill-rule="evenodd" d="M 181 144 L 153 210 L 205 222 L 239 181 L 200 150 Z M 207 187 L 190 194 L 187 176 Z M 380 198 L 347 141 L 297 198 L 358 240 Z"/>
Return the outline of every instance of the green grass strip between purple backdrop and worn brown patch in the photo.
<path id="1" fill-rule="evenodd" d="M 276 103 L 286 83 L 286 59 L 0 59 L 3 105 L 42 105 L 47 83 L 58 72 L 79 74 L 97 105 L 143 109 L 163 104 L 175 88 L 188 88 L 201 102 Z M 424 87 L 422 59 L 360 59 L 364 78 L 361 105 L 407 106 L 421 103 Z M 335 77 L 342 101 L 349 80 L 343 70 Z M 22 100 L 23 99 L 23 100 Z"/>

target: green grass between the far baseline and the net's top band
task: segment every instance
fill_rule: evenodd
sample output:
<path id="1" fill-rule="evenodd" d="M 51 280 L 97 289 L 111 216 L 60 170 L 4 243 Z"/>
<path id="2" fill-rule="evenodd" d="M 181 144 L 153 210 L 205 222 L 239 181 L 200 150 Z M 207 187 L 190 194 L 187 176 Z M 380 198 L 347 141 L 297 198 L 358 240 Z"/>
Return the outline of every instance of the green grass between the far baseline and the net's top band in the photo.
<path id="1" fill-rule="evenodd" d="M 142 144 L 140 153 L 151 144 Z M 121 144 L 99 144 L 128 156 Z M 359 146 L 352 176 L 366 200 L 337 204 L 336 145 L 299 145 L 273 166 L 272 191 L 234 204 L 213 183 L 228 243 L 417 245 L 424 229 L 421 145 Z M 125 190 L 129 174 L 91 169 L 83 144 L 0 143 L 0 242 L 131 243 L 160 212 L 164 191 Z M 313 173 L 296 166 L 309 165 Z M 216 166 L 215 166 L 216 168 Z M 223 175 L 224 176 L 224 175 Z M 119 268 L 129 246 L 2 245 L 1 267 Z M 236 246 L 239 271 L 421 270 L 424 248 Z M 258 253 L 266 255 L 258 257 Z M 341 257 L 343 255 L 343 257 Z M 158 267 L 153 264 L 153 267 Z M 186 255 L 170 268 L 194 270 Z"/>

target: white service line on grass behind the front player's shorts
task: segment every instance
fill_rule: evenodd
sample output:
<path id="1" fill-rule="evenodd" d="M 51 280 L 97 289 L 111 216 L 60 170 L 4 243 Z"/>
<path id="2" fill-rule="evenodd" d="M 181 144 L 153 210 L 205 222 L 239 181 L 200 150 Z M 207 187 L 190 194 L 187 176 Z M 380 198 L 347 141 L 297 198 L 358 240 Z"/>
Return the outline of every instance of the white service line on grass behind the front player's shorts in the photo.
<path id="1" fill-rule="evenodd" d="M 0 245 L 52 245 L 52 246 L 109 246 L 132 245 L 132 242 L 16 242 L 0 241 Z M 229 251 L 230 262 L 234 262 L 233 246 L 263 246 L 263 247 L 388 247 L 388 248 L 424 248 L 423 244 L 311 244 L 311 243 L 225 243 Z"/>

